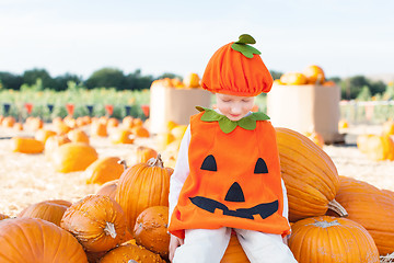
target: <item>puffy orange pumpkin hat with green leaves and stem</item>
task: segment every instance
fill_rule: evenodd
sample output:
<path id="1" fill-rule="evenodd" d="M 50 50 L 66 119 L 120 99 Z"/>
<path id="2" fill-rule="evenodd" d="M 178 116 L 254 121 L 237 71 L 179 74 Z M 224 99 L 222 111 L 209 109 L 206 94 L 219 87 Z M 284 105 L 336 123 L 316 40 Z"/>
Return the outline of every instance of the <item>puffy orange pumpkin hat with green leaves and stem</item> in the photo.
<path id="1" fill-rule="evenodd" d="M 256 41 L 247 34 L 237 42 L 220 47 L 210 58 L 201 87 L 213 93 L 256 96 L 269 92 L 273 77 L 260 58 L 260 52 L 247 45 Z"/>

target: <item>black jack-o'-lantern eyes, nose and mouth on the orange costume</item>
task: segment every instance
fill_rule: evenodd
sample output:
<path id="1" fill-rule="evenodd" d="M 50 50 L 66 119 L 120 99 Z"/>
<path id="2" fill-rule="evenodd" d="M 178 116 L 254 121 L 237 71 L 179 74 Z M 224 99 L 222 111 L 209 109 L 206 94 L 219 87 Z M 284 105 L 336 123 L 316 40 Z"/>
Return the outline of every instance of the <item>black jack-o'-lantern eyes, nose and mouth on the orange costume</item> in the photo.
<path id="1" fill-rule="evenodd" d="M 217 172 L 218 165 L 216 162 L 216 158 L 212 155 L 207 156 L 204 159 L 200 169 L 206 171 Z M 254 173 L 255 174 L 268 173 L 267 164 L 262 158 L 257 159 L 254 168 Z M 189 199 L 192 201 L 193 204 L 207 211 L 215 213 L 216 209 L 220 209 L 222 210 L 223 215 L 247 218 L 247 219 L 254 219 L 255 215 L 259 215 L 263 219 L 265 219 L 278 210 L 278 201 L 258 204 L 248 208 L 237 208 L 235 210 L 232 210 L 229 209 L 227 205 L 204 196 L 189 197 Z M 237 182 L 231 184 L 229 191 L 225 194 L 224 201 L 239 203 L 240 207 L 242 203 L 245 203 L 245 196 L 243 190 Z"/>

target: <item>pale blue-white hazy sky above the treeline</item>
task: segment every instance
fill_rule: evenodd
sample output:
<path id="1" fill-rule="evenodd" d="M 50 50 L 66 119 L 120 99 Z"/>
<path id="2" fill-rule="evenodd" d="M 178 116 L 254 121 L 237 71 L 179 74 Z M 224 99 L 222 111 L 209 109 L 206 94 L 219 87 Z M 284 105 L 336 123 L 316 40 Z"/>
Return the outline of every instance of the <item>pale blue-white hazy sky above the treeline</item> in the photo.
<path id="1" fill-rule="evenodd" d="M 390 0 L 0 0 L 0 71 L 201 76 L 216 49 L 248 33 L 271 70 L 394 73 L 393 10 Z"/>

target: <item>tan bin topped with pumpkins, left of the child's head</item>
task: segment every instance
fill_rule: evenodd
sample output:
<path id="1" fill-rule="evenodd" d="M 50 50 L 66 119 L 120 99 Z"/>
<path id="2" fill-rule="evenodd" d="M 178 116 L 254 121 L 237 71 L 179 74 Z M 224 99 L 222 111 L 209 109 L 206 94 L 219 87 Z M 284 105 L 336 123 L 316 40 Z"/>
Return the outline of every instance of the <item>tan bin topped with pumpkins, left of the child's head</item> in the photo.
<path id="1" fill-rule="evenodd" d="M 152 85 L 150 89 L 150 132 L 165 133 L 167 123 L 173 121 L 187 125 L 192 115 L 197 114 L 196 106 L 209 107 L 211 93 L 202 89 L 175 89 Z"/>

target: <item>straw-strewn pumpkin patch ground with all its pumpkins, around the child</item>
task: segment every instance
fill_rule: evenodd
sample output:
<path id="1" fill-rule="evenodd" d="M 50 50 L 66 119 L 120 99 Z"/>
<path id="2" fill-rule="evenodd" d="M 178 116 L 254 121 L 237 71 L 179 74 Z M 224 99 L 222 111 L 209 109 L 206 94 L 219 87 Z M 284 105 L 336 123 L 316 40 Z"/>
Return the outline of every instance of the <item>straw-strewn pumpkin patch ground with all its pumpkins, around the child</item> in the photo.
<path id="1" fill-rule="evenodd" d="M 369 158 L 356 141 L 383 127 L 346 127 L 348 144 L 320 146 L 276 130 L 297 260 L 391 262 L 394 161 Z M 184 132 L 169 123 L 169 133 L 152 135 L 149 121 L 127 117 L 0 126 L 0 245 L 24 235 L 46 262 L 167 261 L 169 180 Z M 40 245 L 48 239 L 59 240 L 56 259 Z M 8 251 L 4 262 L 22 262 L 12 248 L 23 244 L 7 242 L 0 259 Z M 222 262 L 248 262 L 235 236 Z"/>

